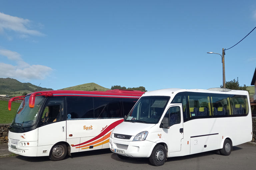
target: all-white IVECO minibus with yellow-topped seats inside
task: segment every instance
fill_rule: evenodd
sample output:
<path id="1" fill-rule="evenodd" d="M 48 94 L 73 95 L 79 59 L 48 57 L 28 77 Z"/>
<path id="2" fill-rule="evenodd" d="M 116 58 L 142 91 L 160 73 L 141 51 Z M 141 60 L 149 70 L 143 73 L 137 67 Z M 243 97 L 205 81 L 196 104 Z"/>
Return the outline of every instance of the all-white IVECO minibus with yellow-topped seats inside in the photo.
<path id="1" fill-rule="evenodd" d="M 229 155 L 252 140 L 249 101 L 247 91 L 223 88 L 149 91 L 112 130 L 109 147 L 119 158 L 149 158 L 154 166 L 210 150 Z"/>

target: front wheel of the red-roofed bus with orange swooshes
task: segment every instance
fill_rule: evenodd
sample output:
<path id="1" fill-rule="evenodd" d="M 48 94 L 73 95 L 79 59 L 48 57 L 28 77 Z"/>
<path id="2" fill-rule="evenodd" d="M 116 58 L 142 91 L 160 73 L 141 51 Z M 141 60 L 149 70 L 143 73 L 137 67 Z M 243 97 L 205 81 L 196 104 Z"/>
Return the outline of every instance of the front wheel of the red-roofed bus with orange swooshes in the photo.
<path id="1" fill-rule="evenodd" d="M 67 152 L 67 145 L 65 145 L 64 143 L 59 143 L 52 147 L 49 158 L 52 161 L 60 161 L 66 157 Z"/>

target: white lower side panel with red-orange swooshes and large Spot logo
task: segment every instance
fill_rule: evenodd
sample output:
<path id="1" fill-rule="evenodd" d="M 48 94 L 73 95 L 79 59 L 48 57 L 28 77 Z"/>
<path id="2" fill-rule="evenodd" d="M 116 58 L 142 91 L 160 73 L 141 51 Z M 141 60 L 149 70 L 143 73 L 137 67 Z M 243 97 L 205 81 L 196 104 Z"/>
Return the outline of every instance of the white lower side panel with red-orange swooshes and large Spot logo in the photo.
<path id="1" fill-rule="evenodd" d="M 67 143 L 71 153 L 109 147 L 112 129 L 123 119 L 67 120 Z"/>

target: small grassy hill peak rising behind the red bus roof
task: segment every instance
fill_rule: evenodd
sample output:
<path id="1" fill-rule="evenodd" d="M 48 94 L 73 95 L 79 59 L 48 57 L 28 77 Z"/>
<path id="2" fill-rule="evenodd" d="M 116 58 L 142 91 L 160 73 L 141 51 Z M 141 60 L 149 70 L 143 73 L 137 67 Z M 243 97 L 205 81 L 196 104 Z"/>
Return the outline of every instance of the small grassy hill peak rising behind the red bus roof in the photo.
<path id="1" fill-rule="evenodd" d="M 108 88 L 102 87 L 96 83 L 85 83 L 73 87 L 67 87 L 60 90 L 80 90 L 80 91 L 107 91 Z"/>

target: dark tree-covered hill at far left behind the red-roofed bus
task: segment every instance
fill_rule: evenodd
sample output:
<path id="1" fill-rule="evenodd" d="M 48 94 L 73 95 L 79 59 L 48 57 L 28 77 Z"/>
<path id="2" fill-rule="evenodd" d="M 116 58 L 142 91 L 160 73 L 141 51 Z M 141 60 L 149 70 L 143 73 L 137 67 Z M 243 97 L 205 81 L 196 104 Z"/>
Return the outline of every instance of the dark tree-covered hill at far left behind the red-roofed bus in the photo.
<path id="1" fill-rule="evenodd" d="M 31 83 L 21 83 L 13 78 L 0 78 L 0 94 L 8 96 L 21 96 L 23 92 L 32 93 L 34 91 L 52 90 L 42 88 Z"/>

